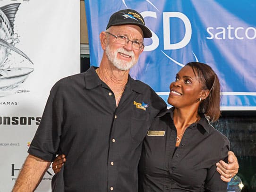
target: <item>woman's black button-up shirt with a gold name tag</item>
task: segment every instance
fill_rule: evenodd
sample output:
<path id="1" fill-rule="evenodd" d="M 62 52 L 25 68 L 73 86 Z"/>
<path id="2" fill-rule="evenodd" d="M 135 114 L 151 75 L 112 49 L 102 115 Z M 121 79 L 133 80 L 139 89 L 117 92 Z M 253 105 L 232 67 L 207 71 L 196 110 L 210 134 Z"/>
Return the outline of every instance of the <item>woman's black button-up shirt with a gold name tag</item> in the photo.
<path id="1" fill-rule="evenodd" d="M 139 192 L 226 192 L 227 183 L 220 179 L 215 163 L 227 162 L 228 139 L 200 114 L 200 121 L 188 126 L 175 150 L 173 109 L 156 117 L 149 129 L 156 134 L 145 137 Z"/>

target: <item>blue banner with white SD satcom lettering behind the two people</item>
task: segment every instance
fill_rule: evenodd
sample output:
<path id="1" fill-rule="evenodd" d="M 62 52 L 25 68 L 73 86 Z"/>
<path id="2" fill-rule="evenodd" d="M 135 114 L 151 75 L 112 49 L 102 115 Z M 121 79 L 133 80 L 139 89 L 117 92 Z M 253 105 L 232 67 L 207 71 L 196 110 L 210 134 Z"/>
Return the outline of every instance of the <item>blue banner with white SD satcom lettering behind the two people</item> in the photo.
<path id="1" fill-rule="evenodd" d="M 85 0 L 91 65 L 102 58 L 99 34 L 112 13 L 136 9 L 153 37 L 130 75 L 164 100 L 186 63 L 207 63 L 222 85 L 222 110 L 256 110 L 255 0 Z"/>

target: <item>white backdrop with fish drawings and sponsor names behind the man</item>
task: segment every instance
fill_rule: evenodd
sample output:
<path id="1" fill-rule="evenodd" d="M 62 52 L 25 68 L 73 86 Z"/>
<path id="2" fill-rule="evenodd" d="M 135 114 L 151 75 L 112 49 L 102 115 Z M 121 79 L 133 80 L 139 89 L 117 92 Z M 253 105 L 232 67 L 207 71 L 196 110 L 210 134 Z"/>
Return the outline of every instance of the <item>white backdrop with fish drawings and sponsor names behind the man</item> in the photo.
<path id="1" fill-rule="evenodd" d="M 79 6 L 0 0 L 0 192 L 15 183 L 52 85 L 80 72 Z M 51 191 L 52 175 L 49 169 L 36 191 Z"/>

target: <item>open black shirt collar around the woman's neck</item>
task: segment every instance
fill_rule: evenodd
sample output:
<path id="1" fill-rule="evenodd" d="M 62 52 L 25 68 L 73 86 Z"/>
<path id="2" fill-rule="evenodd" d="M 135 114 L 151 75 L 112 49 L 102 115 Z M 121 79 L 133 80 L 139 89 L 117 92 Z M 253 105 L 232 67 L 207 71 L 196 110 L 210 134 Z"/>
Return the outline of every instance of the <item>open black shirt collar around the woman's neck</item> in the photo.
<path id="1" fill-rule="evenodd" d="M 168 114 L 168 116 L 171 117 L 171 119 L 173 119 L 173 110 L 174 110 L 174 107 L 172 107 L 170 109 L 164 109 L 164 110 L 160 111 L 156 117 L 163 117 L 163 116 Z M 209 121 L 206 119 L 205 114 L 199 113 L 199 116 L 201 118 L 197 122 L 197 125 L 201 126 L 202 128 L 205 129 L 205 131 L 207 133 L 209 133 L 210 132 L 210 126 L 212 126 L 212 125 L 210 125 Z"/>

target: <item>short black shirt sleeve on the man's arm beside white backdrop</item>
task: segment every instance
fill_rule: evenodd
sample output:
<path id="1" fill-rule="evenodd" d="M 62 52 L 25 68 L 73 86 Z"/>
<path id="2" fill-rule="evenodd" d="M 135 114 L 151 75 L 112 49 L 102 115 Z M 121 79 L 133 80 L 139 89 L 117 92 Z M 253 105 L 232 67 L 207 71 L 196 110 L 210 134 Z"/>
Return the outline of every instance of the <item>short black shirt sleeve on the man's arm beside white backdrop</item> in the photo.
<path id="1" fill-rule="evenodd" d="M 63 99 L 61 86 L 55 84 L 46 102 L 43 116 L 28 153 L 46 161 L 53 161 L 60 143 L 63 117 Z"/>

